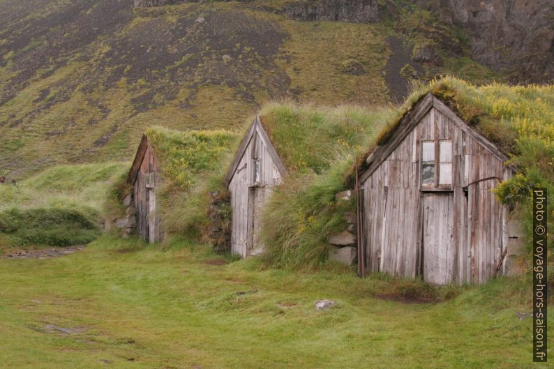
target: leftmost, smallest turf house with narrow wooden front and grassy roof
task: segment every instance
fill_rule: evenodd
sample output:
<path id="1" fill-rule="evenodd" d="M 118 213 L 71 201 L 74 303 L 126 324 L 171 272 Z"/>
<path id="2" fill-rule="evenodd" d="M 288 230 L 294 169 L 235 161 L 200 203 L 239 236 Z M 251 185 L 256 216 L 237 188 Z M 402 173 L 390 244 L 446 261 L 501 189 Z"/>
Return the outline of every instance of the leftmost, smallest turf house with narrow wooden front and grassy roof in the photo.
<path id="1" fill-rule="evenodd" d="M 127 179 L 137 234 L 158 242 L 166 233 L 208 227 L 202 185 L 220 170 L 234 140 L 227 130 L 147 128 Z"/>

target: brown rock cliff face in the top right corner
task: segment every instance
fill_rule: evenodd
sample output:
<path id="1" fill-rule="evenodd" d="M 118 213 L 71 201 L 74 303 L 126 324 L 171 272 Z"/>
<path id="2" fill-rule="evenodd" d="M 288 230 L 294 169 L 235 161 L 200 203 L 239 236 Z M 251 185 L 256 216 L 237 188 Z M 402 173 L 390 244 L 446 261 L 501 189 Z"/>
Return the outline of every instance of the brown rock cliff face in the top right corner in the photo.
<path id="1" fill-rule="evenodd" d="M 470 33 L 472 58 L 507 70 L 514 82 L 554 79 L 551 0 L 412 0 Z"/>

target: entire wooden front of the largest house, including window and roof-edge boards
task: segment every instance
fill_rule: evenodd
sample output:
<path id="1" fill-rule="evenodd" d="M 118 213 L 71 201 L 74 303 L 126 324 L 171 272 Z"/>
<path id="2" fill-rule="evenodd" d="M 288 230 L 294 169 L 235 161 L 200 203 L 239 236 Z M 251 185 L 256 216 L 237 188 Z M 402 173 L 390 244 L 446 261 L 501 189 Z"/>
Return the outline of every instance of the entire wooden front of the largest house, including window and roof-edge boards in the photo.
<path id="1" fill-rule="evenodd" d="M 514 227 L 493 189 L 514 176 L 508 159 L 440 98 L 421 97 L 360 176 L 368 271 L 438 285 L 504 272 Z"/>

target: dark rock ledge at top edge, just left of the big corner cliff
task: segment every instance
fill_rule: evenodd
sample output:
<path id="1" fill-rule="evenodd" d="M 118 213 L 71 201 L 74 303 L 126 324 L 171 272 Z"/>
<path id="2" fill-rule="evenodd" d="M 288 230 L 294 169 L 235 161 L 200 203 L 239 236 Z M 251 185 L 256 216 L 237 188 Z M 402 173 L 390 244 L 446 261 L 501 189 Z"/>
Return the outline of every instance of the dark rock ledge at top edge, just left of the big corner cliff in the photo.
<path id="1" fill-rule="evenodd" d="M 382 3 L 378 0 L 295 1 L 286 3 L 283 12 L 303 21 L 376 23 L 396 9 L 391 1 L 386 1 L 385 6 Z"/>

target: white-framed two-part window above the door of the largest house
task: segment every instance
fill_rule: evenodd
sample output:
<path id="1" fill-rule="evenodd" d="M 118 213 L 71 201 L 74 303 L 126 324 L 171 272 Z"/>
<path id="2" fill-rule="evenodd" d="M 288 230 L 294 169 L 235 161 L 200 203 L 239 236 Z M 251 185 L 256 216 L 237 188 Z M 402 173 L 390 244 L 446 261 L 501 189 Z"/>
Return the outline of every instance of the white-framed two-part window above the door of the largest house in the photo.
<path id="1" fill-rule="evenodd" d="M 452 140 L 421 142 L 421 189 L 452 188 Z"/>

